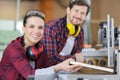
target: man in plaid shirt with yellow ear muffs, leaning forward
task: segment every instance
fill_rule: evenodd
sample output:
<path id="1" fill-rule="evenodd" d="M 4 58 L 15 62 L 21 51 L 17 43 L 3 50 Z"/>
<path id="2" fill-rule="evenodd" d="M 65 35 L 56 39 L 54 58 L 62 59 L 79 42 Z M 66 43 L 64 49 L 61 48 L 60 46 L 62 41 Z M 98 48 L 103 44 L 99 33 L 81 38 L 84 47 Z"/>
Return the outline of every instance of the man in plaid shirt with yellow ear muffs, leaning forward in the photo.
<path id="1" fill-rule="evenodd" d="M 46 23 L 43 41 L 50 65 L 62 62 L 67 58 L 83 61 L 82 24 L 89 8 L 85 0 L 71 0 L 64 17 Z"/>

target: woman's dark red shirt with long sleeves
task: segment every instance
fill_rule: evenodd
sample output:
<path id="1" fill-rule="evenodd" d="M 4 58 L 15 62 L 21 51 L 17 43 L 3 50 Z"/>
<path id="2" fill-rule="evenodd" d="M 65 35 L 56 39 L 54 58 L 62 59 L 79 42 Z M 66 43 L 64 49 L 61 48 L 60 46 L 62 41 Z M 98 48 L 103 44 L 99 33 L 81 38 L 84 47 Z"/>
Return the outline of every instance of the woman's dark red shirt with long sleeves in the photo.
<path id="1" fill-rule="evenodd" d="M 46 56 L 41 54 L 35 60 L 35 64 L 35 69 L 46 67 Z M 0 80 L 27 80 L 28 75 L 35 74 L 35 69 L 30 65 L 19 37 L 12 41 L 3 53 L 0 62 Z"/>

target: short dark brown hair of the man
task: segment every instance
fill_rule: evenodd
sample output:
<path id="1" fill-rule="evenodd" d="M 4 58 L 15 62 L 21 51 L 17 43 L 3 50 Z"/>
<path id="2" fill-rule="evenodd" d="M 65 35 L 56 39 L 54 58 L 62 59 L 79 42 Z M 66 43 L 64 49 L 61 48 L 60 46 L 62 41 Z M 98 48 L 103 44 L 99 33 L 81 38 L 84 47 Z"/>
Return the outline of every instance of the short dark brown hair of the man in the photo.
<path id="1" fill-rule="evenodd" d="M 78 6 L 86 6 L 88 9 L 87 9 L 87 14 L 90 10 L 90 5 L 86 2 L 86 0 L 70 0 L 69 1 L 69 8 L 73 8 L 74 5 L 78 5 Z M 86 14 L 86 15 L 87 15 Z"/>

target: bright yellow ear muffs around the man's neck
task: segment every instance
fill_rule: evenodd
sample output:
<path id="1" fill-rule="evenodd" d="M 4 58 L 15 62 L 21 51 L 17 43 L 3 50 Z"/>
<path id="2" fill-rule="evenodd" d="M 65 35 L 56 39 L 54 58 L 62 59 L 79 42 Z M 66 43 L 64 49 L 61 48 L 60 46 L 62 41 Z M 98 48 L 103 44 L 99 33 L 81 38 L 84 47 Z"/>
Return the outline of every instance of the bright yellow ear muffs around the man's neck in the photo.
<path id="1" fill-rule="evenodd" d="M 80 26 L 74 26 L 71 23 L 67 24 L 67 29 L 69 31 L 69 35 L 73 35 L 75 37 L 80 33 Z"/>

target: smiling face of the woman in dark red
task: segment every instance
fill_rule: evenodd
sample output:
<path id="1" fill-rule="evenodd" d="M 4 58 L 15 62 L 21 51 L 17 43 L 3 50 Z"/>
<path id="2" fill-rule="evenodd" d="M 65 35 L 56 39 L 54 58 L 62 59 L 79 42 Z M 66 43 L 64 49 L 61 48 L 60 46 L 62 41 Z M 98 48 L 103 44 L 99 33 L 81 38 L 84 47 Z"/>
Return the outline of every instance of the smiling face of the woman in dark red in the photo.
<path id="1" fill-rule="evenodd" d="M 31 46 L 41 40 L 44 33 L 44 20 L 40 17 L 29 17 L 23 26 L 25 44 Z"/>

